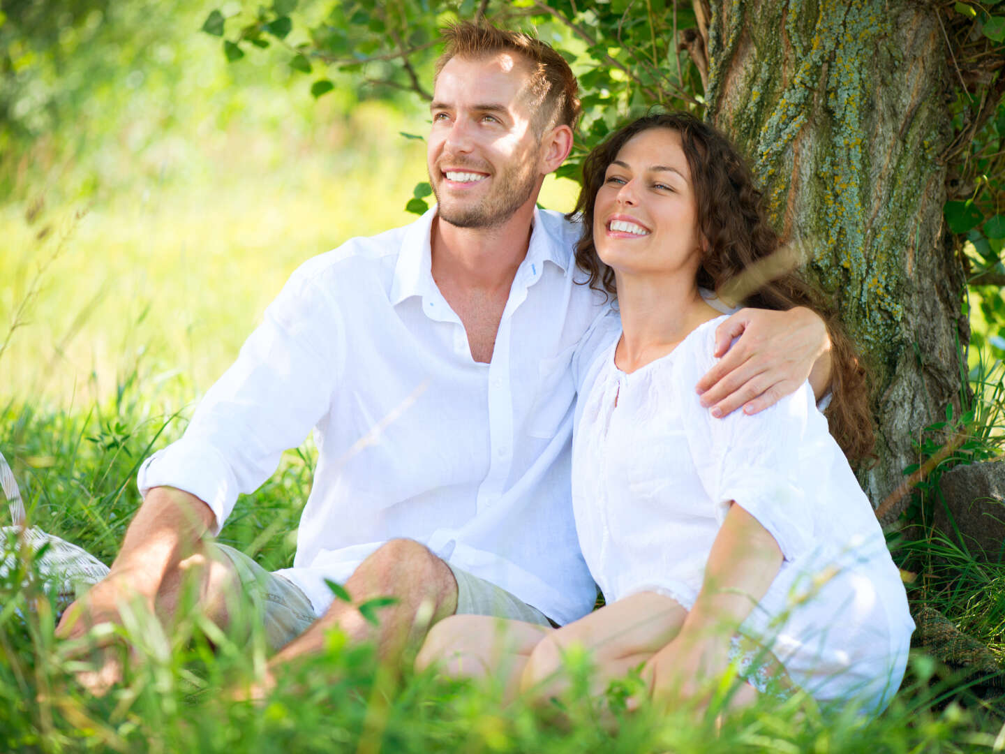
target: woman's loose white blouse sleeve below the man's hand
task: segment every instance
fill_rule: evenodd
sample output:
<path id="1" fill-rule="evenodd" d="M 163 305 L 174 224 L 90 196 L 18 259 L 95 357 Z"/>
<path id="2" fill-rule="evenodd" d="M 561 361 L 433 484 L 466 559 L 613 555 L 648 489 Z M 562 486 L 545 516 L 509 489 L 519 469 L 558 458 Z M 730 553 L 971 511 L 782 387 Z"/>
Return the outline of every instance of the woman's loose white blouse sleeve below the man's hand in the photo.
<path id="1" fill-rule="evenodd" d="M 813 543 L 813 517 L 801 464 L 820 425 L 813 390 L 805 382 L 793 394 L 760 413 L 734 411 L 717 419 L 698 403 L 694 385 L 718 361 L 713 356 L 719 320 L 702 326 L 674 360 L 673 387 L 687 444 L 706 493 L 722 523 L 730 504 L 750 513 L 775 538 L 786 560 Z M 696 337 L 694 337 L 696 336 Z M 819 417 L 822 419 L 822 417 Z M 826 432 L 826 423 L 824 423 Z M 821 475 L 826 468 L 820 469 Z M 820 480 L 826 484 L 825 479 Z"/>

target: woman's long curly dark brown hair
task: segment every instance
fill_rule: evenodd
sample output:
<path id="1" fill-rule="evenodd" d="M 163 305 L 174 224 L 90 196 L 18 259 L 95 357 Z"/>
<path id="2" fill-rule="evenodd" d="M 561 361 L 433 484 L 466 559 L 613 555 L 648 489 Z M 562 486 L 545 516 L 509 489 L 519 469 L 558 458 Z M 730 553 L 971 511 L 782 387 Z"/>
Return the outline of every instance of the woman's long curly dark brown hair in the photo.
<path id="1" fill-rule="evenodd" d="M 833 398 L 827 409 L 830 431 L 851 460 L 874 457 L 875 443 L 865 370 L 850 339 L 821 296 L 796 271 L 766 275 L 755 262 L 778 250 L 778 234 L 768 222 L 761 192 L 746 160 L 714 127 L 686 113 L 645 116 L 622 127 L 596 147 L 583 162 L 583 188 L 570 218 L 580 218 L 583 235 L 576 244 L 576 263 L 590 277 L 590 288 L 611 297 L 617 292 L 614 270 L 597 255 L 593 242 L 593 208 L 607 168 L 621 148 L 643 131 L 669 129 L 680 135 L 690 169 L 699 237 L 706 241 L 697 285 L 722 296 L 744 272 L 761 275 L 739 301 L 745 307 L 787 310 L 808 307 L 827 324 L 831 339 Z M 750 284 L 748 284 L 750 285 Z M 728 297 L 727 297 L 728 298 Z"/>

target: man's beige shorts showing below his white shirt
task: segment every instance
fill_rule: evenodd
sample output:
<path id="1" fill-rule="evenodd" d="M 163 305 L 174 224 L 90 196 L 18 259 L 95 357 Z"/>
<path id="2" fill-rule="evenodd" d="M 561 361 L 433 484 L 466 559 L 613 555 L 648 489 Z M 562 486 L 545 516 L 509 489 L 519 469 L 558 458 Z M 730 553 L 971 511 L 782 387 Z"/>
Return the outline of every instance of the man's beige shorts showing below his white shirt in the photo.
<path id="1" fill-rule="evenodd" d="M 244 553 L 227 545 L 217 545 L 233 563 L 241 581 L 241 591 L 262 614 L 265 636 L 272 650 L 292 641 L 316 619 L 311 600 L 292 581 L 270 573 Z M 447 563 L 457 581 L 458 615 L 491 615 L 553 625 L 536 607 L 484 579 Z"/>

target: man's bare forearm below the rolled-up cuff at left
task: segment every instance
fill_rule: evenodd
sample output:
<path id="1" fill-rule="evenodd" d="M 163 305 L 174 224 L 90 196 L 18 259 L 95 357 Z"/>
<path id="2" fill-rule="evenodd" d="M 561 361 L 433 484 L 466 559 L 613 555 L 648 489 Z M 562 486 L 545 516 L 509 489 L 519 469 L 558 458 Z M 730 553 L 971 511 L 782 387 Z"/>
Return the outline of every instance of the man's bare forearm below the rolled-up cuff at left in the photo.
<path id="1" fill-rule="evenodd" d="M 164 575 L 193 554 L 215 523 L 213 511 L 194 495 L 155 487 L 130 524 L 109 578 L 126 578 L 153 598 Z"/>

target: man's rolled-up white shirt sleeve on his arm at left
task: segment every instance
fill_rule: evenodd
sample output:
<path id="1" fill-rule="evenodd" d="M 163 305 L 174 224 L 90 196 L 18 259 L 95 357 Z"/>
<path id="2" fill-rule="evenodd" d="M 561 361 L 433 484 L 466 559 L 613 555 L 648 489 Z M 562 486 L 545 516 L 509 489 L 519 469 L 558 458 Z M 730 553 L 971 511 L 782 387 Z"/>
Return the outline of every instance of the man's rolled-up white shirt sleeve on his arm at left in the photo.
<path id="1" fill-rule="evenodd" d="M 185 434 L 140 467 L 146 497 L 174 487 L 204 501 L 214 534 L 237 496 L 254 492 L 329 410 L 343 368 L 345 333 L 335 302 L 308 262 L 289 278 L 209 389 Z"/>

